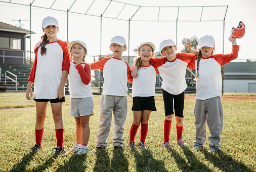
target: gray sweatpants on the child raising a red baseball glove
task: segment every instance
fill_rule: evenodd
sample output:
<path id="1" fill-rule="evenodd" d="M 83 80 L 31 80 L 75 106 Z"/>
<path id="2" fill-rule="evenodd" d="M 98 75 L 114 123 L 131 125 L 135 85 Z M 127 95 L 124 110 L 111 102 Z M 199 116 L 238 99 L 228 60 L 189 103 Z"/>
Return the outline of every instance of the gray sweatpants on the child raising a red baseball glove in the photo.
<path id="1" fill-rule="evenodd" d="M 219 150 L 221 148 L 221 132 L 223 127 L 223 110 L 221 98 L 215 97 L 206 100 L 196 100 L 195 104 L 196 137 L 194 146 L 204 147 L 206 139 L 206 122 L 210 135 L 209 147 Z"/>

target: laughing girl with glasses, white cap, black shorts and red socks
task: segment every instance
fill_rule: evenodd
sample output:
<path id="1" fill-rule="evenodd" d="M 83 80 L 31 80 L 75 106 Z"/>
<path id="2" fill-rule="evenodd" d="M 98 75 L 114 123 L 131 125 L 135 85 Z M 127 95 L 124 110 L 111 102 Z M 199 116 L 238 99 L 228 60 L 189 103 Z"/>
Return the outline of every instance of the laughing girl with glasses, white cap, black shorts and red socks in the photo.
<path id="1" fill-rule="evenodd" d="M 151 57 L 154 56 L 155 46 L 152 42 L 143 42 L 138 48 L 139 57 L 135 58 L 134 63 L 139 67 L 138 77 L 129 77 L 129 82 L 133 83 L 133 123 L 130 129 L 129 147 L 136 148 L 134 141 L 141 124 L 141 137 L 139 149 L 146 149 L 145 140 L 148 133 L 148 121 L 151 111 L 156 111 L 155 107 L 155 82 L 157 68 L 150 64 Z M 131 70 L 133 70 L 134 66 Z"/>

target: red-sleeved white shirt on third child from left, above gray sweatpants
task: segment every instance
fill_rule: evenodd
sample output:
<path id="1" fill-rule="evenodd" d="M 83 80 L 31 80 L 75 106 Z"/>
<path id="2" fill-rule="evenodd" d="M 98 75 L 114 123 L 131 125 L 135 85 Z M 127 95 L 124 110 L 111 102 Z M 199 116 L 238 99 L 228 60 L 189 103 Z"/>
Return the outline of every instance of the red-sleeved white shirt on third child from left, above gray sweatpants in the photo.
<path id="1" fill-rule="evenodd" d="M 103 95 L 126 96 L 127 78 L 131 75 L 129 64 L 119 58 L 104 57 L 90 64 L 91 70 L 103 69 Z"/>

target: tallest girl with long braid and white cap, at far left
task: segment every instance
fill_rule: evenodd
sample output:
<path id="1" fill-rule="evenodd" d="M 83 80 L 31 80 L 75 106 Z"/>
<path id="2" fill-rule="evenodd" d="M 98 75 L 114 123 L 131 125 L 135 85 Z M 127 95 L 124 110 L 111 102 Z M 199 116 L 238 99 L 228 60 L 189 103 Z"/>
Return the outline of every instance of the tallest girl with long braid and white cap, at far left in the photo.
<path id="1" fill-rule="evenodd" d="M 57 140 L 56 154 L 64 153 L 62 103 L 65 101 L 65 83 L 69 72 L 70 52 L 68 43 L 57 37 L 58 21 L 54 17 L 42 20 L 41 41 L 35 47 L 35 60 L 28 79 L 26 98 L 32 95 L 31 85 L 34 84 L 36 122 L 35 146 L 31 150 L 41 149 L 47 104 L 52 106 L 55 133 Z"/>

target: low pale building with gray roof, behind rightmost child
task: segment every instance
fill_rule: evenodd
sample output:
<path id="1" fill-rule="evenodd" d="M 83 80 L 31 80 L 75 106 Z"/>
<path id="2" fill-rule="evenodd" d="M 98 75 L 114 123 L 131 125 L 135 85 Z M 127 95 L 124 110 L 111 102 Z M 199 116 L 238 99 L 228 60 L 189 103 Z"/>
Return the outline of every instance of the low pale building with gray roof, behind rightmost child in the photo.
<path id="1" fill-rule="evenodd" d="M 256 62 L 230 62 L 224 65 L 224 92 L 256 93 Z"/>

